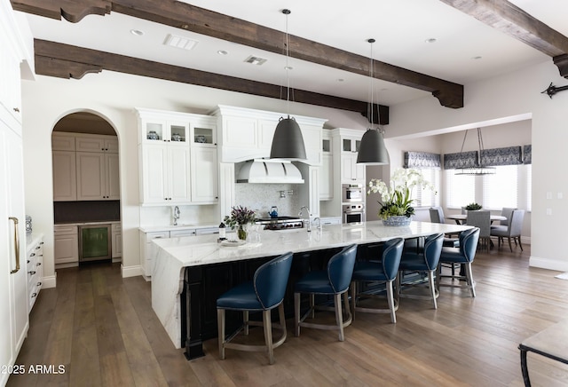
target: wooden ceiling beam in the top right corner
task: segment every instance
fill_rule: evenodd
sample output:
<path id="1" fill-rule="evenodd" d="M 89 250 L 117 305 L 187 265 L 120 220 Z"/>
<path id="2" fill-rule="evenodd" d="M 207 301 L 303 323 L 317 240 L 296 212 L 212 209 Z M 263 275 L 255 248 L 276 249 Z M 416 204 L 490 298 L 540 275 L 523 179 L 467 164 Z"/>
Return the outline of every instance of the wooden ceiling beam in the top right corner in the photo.
<path id="1" fill-rule="evenodd" d="M 568 37 L 506 0 L 440 0 L 551 57 L 568 77 Z"/>

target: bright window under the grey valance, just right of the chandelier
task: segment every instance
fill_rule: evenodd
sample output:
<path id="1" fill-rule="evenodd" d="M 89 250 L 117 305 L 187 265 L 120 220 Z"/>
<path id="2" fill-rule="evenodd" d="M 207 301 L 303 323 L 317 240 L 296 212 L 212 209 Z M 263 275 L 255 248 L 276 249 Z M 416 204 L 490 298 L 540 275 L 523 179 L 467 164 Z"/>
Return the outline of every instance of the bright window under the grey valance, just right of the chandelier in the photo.
<path id="1" fill-rule="evenodd" d="M 484 209 L 502 209 L 518 207 L 518 172 L 522 166 L 504 165 L 495 167 L 494 175 L 483 177 Z"/>

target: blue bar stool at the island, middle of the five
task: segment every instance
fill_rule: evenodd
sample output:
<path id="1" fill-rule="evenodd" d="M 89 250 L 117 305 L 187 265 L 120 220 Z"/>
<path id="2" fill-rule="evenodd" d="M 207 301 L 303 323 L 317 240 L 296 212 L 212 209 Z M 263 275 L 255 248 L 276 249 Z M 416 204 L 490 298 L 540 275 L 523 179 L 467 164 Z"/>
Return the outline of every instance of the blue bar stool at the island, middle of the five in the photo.
<path id="1" fill-rule="evenodd" d="M 397 278 L 398 265 L 400 265 L 403 247 L 404 240 L 402 238 L 391 239 L 384 243 L 383 256 L 380 262 L 362 261 L 355 265 L 353 276 L 351 277 L 353 316 L 355 316 L 355 312 L 390 313 L 390 321 L 392 321 L 393 324 L 397 322 L 395 312 L 398 309 L 398 302 L 394 298 L 392 282 Z M 359 298 L 374 296 L 373 294 L 359 293 L 358 282 L 384 282 L 387 288 L 389 308 L 364 308 L 357 306 Z"/>

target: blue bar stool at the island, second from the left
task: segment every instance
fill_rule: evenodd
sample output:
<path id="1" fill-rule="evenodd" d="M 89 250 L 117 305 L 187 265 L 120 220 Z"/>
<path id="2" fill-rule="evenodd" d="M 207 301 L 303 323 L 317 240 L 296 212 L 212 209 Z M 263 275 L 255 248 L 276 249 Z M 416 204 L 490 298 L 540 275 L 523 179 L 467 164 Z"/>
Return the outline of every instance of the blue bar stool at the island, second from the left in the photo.
<path id="1" fill-rule="evenodd" d="M 337 329 L 339 331 L 339 341 L 343 342 L 345 339 L 343 328 L 349 326 L 352 320 L 347 290 L 349 290 L 356 257 L 357 245 L 353 244 L 331 257 L 327 263 L 327 270 L 308 272 L 296 282 L 294 285 L 294 325 L 296 336 L 300 336 L 300 327 Z M 310 309 L 303 316 L 300 316 L 300 296 L 302 293 L 310 295 Z M 308 315 L 311 315 L 313 318 L 313 311 L 318 309 L 318 306 L 314 304 L 314 295 L 334 296 L 335 325 L 304 321 Z M 345 312 L 347 313 L 346 320 L 343 320 L 342 295 Z"/>

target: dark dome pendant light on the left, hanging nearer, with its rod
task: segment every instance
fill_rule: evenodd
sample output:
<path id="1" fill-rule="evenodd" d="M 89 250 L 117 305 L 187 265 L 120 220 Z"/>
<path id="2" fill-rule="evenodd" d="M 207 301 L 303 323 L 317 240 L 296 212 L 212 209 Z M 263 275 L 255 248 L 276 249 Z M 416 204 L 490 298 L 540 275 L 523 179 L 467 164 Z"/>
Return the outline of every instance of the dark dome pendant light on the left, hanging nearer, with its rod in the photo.
<path id="1" fill-rule="evenodd" d="M 280 117 L 280 122 L 276 125 L 274 130 L 274 137 L 272 138 L 272 147 L 270 150 L 271 159 L 286 159 L 286 160 L 305 160 L 305 146 L 304 138 L 302 137 L 302 130 L 294 119 L 289 115 L 290 103 L 290 78 L 288 71 L 288 15 L 290 10 L 282 10 L 286 15 L 286 114 L 287 118 Z"/>

